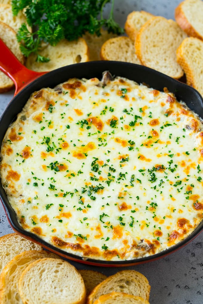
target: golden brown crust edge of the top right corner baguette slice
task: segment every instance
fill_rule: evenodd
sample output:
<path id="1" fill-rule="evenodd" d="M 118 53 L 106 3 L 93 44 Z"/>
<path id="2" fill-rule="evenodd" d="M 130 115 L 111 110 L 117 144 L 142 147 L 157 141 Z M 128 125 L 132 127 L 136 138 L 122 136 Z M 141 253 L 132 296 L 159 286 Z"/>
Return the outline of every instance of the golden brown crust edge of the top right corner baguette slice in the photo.
<path id="1" fill-rule="evenodd" d="M 183 2 L 181 2 L 175 9 L 176 22 L 188 36 L 196 37 L 196 38 L 203 40 L 203 37 L 196 31 L 196 29 L 188 21 L 187 17 L 184 14 L 182 6 L 183 6 Z"/>

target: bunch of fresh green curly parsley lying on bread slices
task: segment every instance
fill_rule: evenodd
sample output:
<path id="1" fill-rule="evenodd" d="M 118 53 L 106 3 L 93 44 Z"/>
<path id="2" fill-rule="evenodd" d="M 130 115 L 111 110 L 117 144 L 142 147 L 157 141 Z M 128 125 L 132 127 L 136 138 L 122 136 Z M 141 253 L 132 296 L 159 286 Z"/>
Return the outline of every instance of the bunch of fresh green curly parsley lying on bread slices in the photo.
<path id="1" fill-rule="evenodd" d="M 112 2 L 110 15 L 104 19 L 103 8 L 109 2 Z M 121 34 L 123 29 L 114 21 L 113 9 L 114 0 L 12 0 L 13 15 L 23 11 L 27 24 L 37 29 L 31 33 L 22 24 L 17 33 L 21 52 L 26 57 L 34 53 L 38 62 L 47 62 L 49 58 L 39 54 L 43 43 L 55 46 L 64 38 L 75 40 L 85 32 L 99 36 L 102 26 L 108 32 Z"/>

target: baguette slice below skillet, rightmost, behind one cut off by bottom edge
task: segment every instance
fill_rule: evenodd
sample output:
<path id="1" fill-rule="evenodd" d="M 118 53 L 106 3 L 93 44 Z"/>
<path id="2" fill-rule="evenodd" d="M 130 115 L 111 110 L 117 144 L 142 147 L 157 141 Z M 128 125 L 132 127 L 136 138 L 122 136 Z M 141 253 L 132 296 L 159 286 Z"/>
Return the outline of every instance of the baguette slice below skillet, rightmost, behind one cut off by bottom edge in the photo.
<path id="1" fill-rule="evenodd" d="M 150 285 L 147 278 L 138 271 L 119 271 L 93 289 L 87 297 L 87 304 L 93 304 L 101 295 L 105 295 L 112 291 L 124 292 L 149 300 Z"/>

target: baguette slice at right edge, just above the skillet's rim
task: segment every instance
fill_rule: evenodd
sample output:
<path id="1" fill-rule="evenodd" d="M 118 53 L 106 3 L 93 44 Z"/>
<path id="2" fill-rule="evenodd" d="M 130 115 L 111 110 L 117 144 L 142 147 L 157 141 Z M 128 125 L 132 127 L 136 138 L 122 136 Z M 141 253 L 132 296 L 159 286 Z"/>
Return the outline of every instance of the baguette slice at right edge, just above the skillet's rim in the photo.
<path id="1" fill-rule="evenodd" d="M 187 85 L 198 90 L 203 97 L 203 41 L 187 37 L 177 49 L 177 62 L 186 74 Z"/>

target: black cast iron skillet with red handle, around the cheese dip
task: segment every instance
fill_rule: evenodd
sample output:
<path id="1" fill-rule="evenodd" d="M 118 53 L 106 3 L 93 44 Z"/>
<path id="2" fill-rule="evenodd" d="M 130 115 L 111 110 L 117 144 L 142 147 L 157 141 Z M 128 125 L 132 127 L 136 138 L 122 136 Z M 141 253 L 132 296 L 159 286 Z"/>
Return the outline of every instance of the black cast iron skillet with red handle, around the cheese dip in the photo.
<path id="1" fill-rule="evenodd" d="M 9 103 L 0 119 L 0 146 L 10 123 L 14 121 L 16 115 L 21 112 L 31 93 L 40 90 L 43 87 L 53 88 L 59 83 L 67 81 L 68 78 L 97 77 L 101 79 L 102 72 L 106 70 L 110 71 L 112 75 L 126 77 L 131 80 L 137 81 L 138 83 L 144 82 L 145 84 L 159 91 L 163 91 L 163 88 L 167 87 L 170 92 L 173 92 L 176 95 L 178 100 L 183 100 L 184 102 L 186 102 L 190 109 L 194 110 L 200 117 L 203 118 L 203 99 L 194 88 L 191 88 L 181 83 L 180 81 L 174 80 L 173 78 L 170 78 L 165 74 L 159 73 L 148 67 L 118 61 L 92 61 L 61 67 L 46 74 L 36 73 L 26 69 L 22 64 L 20 64 L 16 57 L 7 49 L 7 47 L 5 47 L 1 40 L 0 49 L 1 54 L 4 55 L 0 58 L 0 69 L 4 71 L 7 75 L 9 75 L 9 77 L 12 78 L 12 80 L 15 82 L 15 95 L 18 92 L 18 94 Z M 27 83 L 29 84 L 26 85 Z M 5 213 L 8 217 L 9 223 L 12 226 L 13 230 L 15 230 L 18 234 L 29 240 L 34 241 L 35 243 L 42 245 L 44 248 L 53 251 L 56 254 L 61 255 L 62 257 L 84 264 L 96 266 L 131 266 L 135 264 L 141 264 L 147 261 L 156 260 L 183 247 L 203 230 L 202 221 L 198 225 L 198 227 L 184 240 L 170 247 L 167 250 L 164 250 L 158 254 L 154 254 L 149 257 L 141 257 L 128 261 L 102 261 L 87 258 L 83 259 L 82 257 L 79 257 L 77 255 L 67 253 L 58 247 L 54 247 L 53 245 L 40 239 L 40 237 L 38 237 L 36 234 L 24 230 L 17 221 L 16 213 L 10 206 L 1 183 L 0 198 L 5 209 Z"/>

